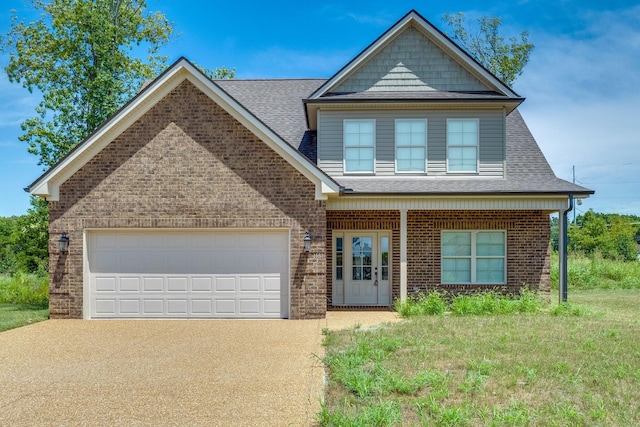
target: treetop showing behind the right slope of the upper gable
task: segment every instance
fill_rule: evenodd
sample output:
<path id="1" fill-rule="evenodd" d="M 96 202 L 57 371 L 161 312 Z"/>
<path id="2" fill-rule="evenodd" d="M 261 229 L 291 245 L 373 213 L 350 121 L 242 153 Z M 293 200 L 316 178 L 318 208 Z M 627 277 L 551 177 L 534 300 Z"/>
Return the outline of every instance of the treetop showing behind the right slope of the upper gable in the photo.
<path id="1" fill-rule="evenodd" d="M 498 17 L 483 16 L 468 22 L 463 12 L 447 12 L 442 20 L 451 29 L 451 39 L 509 86 L 529 62 L 533 44 L 529 43 L 527 31 L 521 32 L 519 39 L 510 37 L 505 41 L 499 33 L 502 19 Z"/>

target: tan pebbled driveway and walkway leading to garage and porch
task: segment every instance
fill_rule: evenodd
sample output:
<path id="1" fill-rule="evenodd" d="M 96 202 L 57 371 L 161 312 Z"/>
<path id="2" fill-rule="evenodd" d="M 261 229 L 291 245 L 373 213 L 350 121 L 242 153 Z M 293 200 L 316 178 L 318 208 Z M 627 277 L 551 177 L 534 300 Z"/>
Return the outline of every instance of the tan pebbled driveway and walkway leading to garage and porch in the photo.
<path id="1" fill-rule="evenodd" d="M 0 425 L 314 425 L 322 329 L 396 319 L 49 320 L 6 331 Z"/>

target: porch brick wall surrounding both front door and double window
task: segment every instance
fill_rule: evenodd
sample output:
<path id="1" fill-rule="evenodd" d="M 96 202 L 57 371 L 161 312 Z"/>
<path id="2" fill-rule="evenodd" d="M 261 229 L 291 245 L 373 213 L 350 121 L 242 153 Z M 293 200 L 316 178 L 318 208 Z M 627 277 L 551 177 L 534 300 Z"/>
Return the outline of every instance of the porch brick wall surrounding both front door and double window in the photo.
<path id="1" fill-rule="evenodd" d="M 327 299 L 332 296 L 333 230 L 391 230 L 392 299 L 400 297 L 400 212 L 327 212 Z M 465 292 L 491 285 L 443 285 L 440 236 L 443 230 L 504 230 L 507 235 L 507 283 L 511 293 L 530 287 L 550 290 L 549 215 L 542 211 L 408 211 L 407 290 Z M 331 303 L 329 303 L 331 305 Z"/>

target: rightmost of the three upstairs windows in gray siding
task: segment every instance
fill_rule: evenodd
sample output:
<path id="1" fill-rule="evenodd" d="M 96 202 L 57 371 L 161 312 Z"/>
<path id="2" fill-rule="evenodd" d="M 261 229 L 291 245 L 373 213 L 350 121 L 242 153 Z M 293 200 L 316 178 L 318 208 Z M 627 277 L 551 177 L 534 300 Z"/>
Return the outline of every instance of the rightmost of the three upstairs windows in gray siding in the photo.
<path id="1" fill-rule="evenodd" d="M 447 170 L 478 171 L 478 120 L 447 120 Z"/>

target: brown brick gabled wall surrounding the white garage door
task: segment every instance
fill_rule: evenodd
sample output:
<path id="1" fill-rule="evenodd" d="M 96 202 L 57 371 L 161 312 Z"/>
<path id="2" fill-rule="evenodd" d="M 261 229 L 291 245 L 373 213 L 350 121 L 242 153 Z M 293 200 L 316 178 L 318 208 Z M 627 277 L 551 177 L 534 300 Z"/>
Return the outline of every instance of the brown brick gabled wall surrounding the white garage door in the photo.
<path id="1" fill-rule="evenodd" d="M 291 318 L 326 311 L 325 202 L 284 159 L 188 82 L 67 180 L 50 203 L 50 310 L 81 318 L 87 228 L 289 228 Z M 312 254 L 303 252 L 305 231 Z M 61 232 L 71 243 L 57 253 Z"/>

